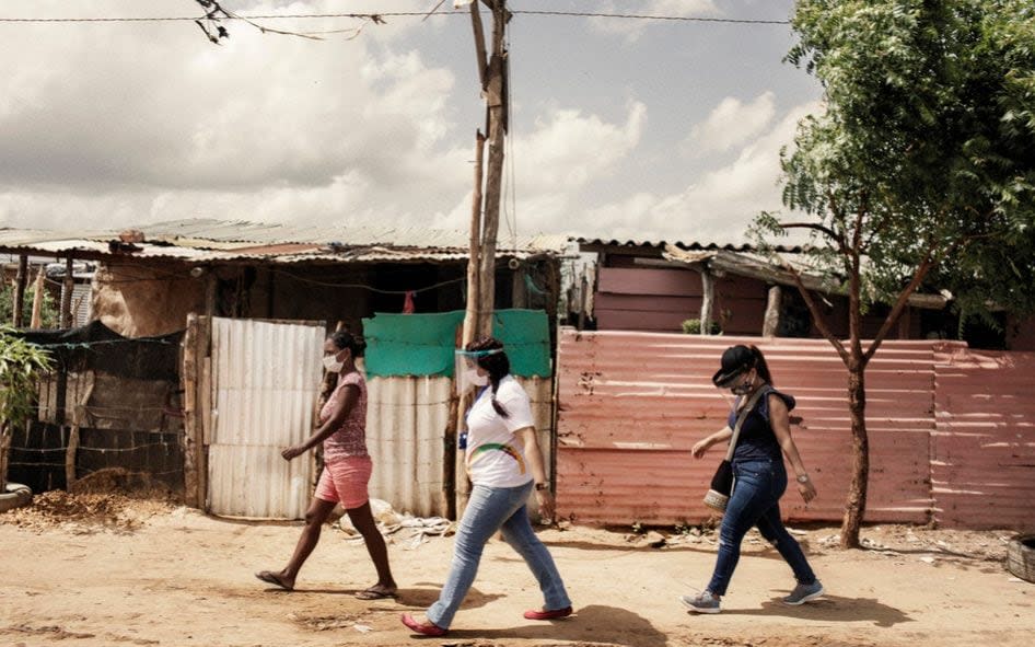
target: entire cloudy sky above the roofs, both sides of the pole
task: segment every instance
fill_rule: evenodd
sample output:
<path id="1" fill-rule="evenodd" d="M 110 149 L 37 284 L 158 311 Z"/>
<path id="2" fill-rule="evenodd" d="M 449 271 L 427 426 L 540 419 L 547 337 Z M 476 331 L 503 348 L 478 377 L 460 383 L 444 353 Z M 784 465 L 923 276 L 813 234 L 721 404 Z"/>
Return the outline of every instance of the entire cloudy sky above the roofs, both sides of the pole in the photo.
<path id="1" fill-rule="evenodd" d="M 253 15 L 437 3 L 222 0 Z M 792 4 L 509 2 L 518 12 L 749 20 L 787 20 Z M 0 3 L 0 19 L 194 15 L 195 0 Z M 386 21 L 322 41 L 226 22 L 230 37 L 216 46 L 185 21 L 0 20 L 0 227 L 207 217 L 465 229 L 485 111 L 470 20 Z M 786 24 L 516 14 L 501 231 L 743 240 L 759 210 L 780 207 L 780 147 L 816 109 L 816 82 L 781 62 L 792 44 Z"/>

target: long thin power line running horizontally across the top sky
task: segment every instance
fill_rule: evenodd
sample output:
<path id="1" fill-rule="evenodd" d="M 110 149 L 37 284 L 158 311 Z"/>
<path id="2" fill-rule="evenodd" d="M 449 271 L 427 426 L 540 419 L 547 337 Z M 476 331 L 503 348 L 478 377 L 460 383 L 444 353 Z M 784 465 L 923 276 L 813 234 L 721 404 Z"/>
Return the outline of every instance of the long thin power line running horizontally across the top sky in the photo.
<path id="1" fill-rule="evenodd" d="M 719 23 L 719 24 L 754 24 L 754 25 L 788 25 L 789 20 L 763 20 L 763 19 L 733 19 L 733 18 L 701 18 L 687 15 L 650 15 L 638 13 L 600 13 L 589 11 L 550 11 L 550 10 L 514 10 L 514 15 L 540 15 L 540 16 L 566 16 L 566 18 L 604 18 L 618 20 L 650 20 L 668 22 L 696 22 L 696 23 Z M 470 15 L 467 11 L 440 11 L 438 15 Z M 316 19 L 361 19 L 376 20 L 384 18 L 426 18 L 429 14 L 425 11 L 392 11 L 383 13 L 279 13 L 279 14 L 235 14 L 233 16 L 221 16 L 220 20 L 316 20 Z M 198 16 L 191 15 L 168 15 L 168 16 L 82 16 L 82 18 L 0 18 L 0 23 L 146 23 L 146 22 L 194 22 Z"/>

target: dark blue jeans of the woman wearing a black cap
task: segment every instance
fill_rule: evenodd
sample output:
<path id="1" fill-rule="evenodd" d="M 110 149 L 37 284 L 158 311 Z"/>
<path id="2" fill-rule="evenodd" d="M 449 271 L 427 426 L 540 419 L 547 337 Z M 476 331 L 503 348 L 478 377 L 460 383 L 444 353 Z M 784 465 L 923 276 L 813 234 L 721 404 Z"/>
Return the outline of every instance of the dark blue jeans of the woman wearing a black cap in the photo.
<path id="1" fill-rule="evenodd" d="M 741 558 L 741 542 L 752 525 L 757 525 L 787 562 L 799 584 L 816 581 L 805 554 L 780 520 L 780 497 L 787 489 L 787 470 L 782 460 L 755 459 L 734 462 L 733 495 L 719 529 L 719 557 L 708 590 L 725 596 L 730 578 Z"/>

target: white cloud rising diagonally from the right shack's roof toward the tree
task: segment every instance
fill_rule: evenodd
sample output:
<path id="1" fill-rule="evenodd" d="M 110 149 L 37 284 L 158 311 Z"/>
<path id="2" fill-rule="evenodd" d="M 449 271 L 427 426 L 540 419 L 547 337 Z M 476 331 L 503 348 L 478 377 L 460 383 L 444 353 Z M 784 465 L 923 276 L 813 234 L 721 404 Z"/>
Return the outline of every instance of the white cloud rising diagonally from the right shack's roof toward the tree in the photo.
<path id="1" fill-rule="evenodd" d="M 798 122 L 817 109 L 815 103 L 792 108 L 744 146 L 736 160 L 705 173 L 681 193 L 640 193 L 591 209 L 585 221 L 615 238 L 746 242 L 744 234 L 754 218 L 780 208 L 780 148 L 793 143 Z"/>

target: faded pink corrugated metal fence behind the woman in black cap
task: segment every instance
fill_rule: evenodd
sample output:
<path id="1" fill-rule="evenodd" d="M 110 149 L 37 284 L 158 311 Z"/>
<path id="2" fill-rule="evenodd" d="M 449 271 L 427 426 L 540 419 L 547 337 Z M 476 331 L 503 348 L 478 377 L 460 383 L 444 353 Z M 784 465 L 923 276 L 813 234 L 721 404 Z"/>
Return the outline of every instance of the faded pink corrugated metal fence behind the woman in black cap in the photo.
<path id="1" fill-rule="evenodd" d="M 697 461 L 689 450 L 725 424 L 732 401 L 711 376 L 737 343 L 758 345 L 777 386 L 798 398 L 792 432 L 821 496 L 806 506 L 789 494 L 784 516 L 839 521 L 851 461 L 847 370 L 827 342 L 567 328 L 557 371 L 559 516 L 653 524 L 710 517 L 701 496 L 722 452 Z M 867 520 L 1031 527 L 1032 369 L 1032 354 L 884 343 L 867 370 Z"/>

